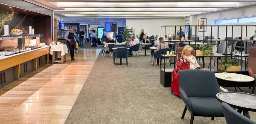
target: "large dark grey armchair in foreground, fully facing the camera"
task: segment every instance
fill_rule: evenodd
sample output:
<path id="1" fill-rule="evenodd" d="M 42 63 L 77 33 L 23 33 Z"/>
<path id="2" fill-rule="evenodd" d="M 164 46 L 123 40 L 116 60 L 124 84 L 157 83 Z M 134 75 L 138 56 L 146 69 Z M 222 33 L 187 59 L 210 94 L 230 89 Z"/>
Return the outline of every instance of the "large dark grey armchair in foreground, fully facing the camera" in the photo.
<path id="1" fill-rule="evenodd" d="M 224 117 L 221 103 L 216 94 L 223 92 L 218 85 L 214 72 L 207 70 L 181 70 L 180 71 L 180 94 L 186 110 L 191 113 L 190 124 L 193 124 L 194 116 Z"/>

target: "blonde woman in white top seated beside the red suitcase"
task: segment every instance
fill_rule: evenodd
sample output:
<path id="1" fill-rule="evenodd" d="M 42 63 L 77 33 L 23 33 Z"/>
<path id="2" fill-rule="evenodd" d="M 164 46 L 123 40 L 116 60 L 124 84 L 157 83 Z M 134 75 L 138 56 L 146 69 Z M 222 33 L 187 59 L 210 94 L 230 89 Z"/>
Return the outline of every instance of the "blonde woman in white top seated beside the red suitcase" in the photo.
<path id="1" fill-rule="evenodd" d="M 184 61 L 189 61 L 189 69 L 202 69 L 202 67 L 198 64 L 196 58 L 194 55 L 191 55 L 191 52 L 193 51 L 193 48 L 189 45 L 184 46 L 182 55 L 184 58 Z M 182 58 L 180 58 L 182 60 Z"/>

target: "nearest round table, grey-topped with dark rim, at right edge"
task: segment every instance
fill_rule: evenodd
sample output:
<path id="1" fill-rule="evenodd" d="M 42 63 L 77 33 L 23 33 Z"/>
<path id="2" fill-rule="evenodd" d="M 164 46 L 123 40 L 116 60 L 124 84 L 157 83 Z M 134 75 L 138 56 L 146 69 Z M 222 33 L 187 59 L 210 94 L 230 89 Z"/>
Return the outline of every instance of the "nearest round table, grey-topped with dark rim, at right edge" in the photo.
<path id="1" fill-rule="evenodd" d="M 216 96 L 218 101 L 237 108 L 237 112 L 243 112 L 247 118 L 250 118 L 248 111 L 256 112 L 256 95 L 244 92 L 219 92 Z"/>

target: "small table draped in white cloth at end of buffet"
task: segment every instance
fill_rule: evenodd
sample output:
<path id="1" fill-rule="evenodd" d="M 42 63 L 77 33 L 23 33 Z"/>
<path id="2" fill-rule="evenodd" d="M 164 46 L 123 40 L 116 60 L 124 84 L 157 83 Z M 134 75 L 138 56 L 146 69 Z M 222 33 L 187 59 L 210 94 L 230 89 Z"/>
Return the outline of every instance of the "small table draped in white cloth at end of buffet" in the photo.
<path id="1" fill-rule="evenodd" d="M 58 55 L 55 56 L 55 52 L 60 52 L 61 60 L 58 60 Z M 61 62 L 62 64 L 66 61 L 66 54 L 68 53 L 67 45 L 52 45 L 50 49 L 50 54 L 52 55 L 52 64 L 55 62 Z M 56 59 L 56 60 L 55 60 Z"/>

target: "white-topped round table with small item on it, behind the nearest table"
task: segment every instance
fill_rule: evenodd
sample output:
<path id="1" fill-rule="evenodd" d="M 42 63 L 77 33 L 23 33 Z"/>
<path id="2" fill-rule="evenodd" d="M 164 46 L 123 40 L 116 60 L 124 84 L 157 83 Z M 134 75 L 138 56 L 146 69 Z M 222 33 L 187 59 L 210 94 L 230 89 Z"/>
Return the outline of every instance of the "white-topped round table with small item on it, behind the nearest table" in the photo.
<path id="1" fill-rule="evenodd" d="M 227 75 L 230 75 L 231 77 L 233 77 L 233 79 L 227 79 L 224 77 L 223 72 L 222 73 L 215 73 L 216 78 L 219 78 L 221 80 L 225 80 L 225 81 L 230 81 L 227 84 L 230 84 L 231 82 L 251 82 L 254 81 L 253 77 L 247 76 L 247 75 L 242 75 L 242 74 L 236 74 L 236 73 L 227 73 Z M 221 87 L 225 87 L 227 84 L 225 84 L 224 86 Z M 234 88 L 236 90 L 236 85 L 233 83 Z M 240 87 L 238 87 L 240 89 Z M 255 83 L 252 89 L 252 93 L 254 92 L 255 89 Z M 241 90 L 241 89 L 240 89 Z M 237 91 L 237 90 L 236 90 Z M 241 92 L 243 92 L 241 90 Z"/>

